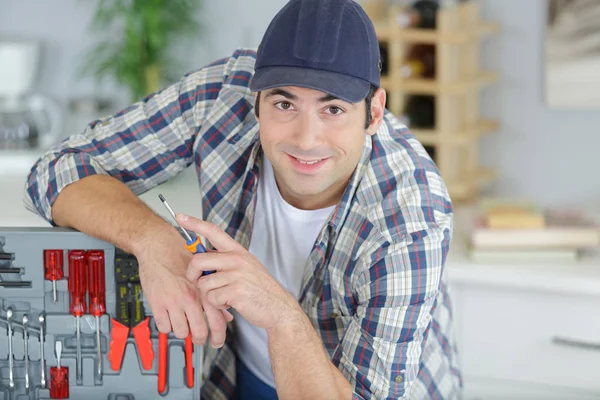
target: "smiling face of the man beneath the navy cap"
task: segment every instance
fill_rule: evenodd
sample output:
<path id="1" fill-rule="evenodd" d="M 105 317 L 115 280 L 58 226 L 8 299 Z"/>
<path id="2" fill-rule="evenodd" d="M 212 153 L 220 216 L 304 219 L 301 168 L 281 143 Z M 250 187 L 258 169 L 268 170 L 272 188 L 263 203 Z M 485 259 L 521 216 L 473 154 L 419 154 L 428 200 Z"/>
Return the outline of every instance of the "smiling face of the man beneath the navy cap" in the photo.
<path id="1" fill-rule="evenodd" d="M 261 145 L 282 197 L 301 209 L 336 204 L 358 164 L 365 135 L 377 130 L 373 124 L 365 130 L 365 101 L 348 103 L 286 86 L 262 92 L 259 107 Z"/>

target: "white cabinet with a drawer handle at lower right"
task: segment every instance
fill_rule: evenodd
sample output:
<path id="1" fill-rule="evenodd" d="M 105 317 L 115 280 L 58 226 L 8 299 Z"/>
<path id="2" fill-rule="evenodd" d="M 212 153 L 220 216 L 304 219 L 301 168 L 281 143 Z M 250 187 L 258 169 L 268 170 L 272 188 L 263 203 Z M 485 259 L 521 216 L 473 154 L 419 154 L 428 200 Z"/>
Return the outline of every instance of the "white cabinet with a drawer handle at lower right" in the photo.
<path id="1" fill-rule="evenodd" d="M 600 399 L 600 257 L 448 262 L 465 399 Z"/>

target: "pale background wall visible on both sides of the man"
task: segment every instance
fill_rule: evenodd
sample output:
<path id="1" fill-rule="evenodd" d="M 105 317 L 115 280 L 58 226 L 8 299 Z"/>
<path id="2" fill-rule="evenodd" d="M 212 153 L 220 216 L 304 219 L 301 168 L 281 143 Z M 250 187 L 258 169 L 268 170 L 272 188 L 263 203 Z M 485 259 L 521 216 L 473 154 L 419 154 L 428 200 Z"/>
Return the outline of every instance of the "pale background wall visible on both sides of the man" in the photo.
<path id="1" fill-rule="evenodd" d="M 185 56 L 194 69 L 256 46 L 285 0 L 204 0 L 204 34 Z M 484 17 L 502 33 L 484 42 L 483 63 L 499 71 L 501 83 L 487 89 L 483 111 L 498 118 L 500 131 L 485 139 L 483 162 L 496 168 L 501 195 L 544 204 L 600 203 L 600 110 L 553 110 L 543 101 L 545 0 L 481 0 Z M 40 91 L 61 100 L 96 92 L 124 99 L 111 84 L 75 80 L 76 67 L 92 43 L 86 34 L 97 0 L 0 0 L 0 37 L 44 38 Z M 34 11 L 31 11 L 34 10 Z M 599 72 L 600 73 L 600 72 Z"/>

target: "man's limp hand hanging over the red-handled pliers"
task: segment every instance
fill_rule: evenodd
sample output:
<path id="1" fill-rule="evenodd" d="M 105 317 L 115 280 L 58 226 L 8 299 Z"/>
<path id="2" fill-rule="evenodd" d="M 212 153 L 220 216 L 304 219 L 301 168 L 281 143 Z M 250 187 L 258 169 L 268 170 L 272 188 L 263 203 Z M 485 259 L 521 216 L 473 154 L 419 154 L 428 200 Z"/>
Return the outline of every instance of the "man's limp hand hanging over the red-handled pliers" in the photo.
<path id="1" fill-rule="evenodd" d="M 181 243 L 166 244 L 160 239 L 136 254 L 140 265 L 140 281 L 144 296 L 152 309 L 160 332 L 173 330 L 183 339 L 192 332 L 192 341 L 204 344 L 210 328 L 210 343 L 221 347 L 225 342 L 226 321 L 233 316 L 218 310 L 202 299 L 198 288 L 186 279 L 185 273 L 192 254 Z M 204 307 L 203 307 L 204 305 Z M 203 312 L 206 313 L 208 327 Z"/>

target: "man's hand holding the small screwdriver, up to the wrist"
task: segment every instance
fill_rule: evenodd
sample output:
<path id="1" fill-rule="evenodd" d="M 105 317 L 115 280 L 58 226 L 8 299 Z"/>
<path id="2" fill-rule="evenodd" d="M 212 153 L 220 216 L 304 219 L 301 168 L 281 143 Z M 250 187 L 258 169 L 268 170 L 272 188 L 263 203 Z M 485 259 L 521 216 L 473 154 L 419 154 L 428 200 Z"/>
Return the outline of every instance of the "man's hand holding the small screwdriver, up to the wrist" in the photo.
<path id="1" fill-rule="evenodd" d="M 186 273 L 209 304 L 222 310 L 233 307 L 248 322 L 267 331 L 303 313 L 296 299 L 258 259 L 217 225 L 181 214 L 177 221 L 217 249 L 194 255 Z M 216 272 L 202 276 L 204 271 Z"/>

